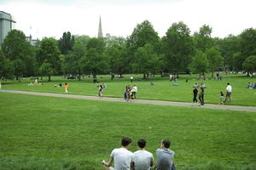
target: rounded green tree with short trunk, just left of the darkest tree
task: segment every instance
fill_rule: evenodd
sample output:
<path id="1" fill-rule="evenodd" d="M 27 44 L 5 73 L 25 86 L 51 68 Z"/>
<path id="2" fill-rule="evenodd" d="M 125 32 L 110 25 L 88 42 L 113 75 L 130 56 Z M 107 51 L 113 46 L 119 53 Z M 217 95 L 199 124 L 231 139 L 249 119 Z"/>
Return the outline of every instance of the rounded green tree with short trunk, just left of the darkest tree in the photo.
<path id="1" fill-rule="evenodd" d="M 61 72 L 60 50 L 54 38 L 44 38 L 38 51 L 39 70 L 43 76 L 50 76 Z"/>

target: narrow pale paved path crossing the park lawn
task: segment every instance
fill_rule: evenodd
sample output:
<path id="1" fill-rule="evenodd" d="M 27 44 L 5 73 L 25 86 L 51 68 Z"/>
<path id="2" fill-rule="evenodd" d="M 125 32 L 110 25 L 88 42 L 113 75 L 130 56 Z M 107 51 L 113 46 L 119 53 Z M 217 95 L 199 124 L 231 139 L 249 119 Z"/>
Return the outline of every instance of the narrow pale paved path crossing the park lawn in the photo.
<path id="1" fill-rule="evenodd" d="M 102 101 L 124 102 L 124 99 L 120 99 L 120 98 L 103 97 L 100 99 L 99 97 L 96 97 L 96 96 L 73 95 L 73 94 L 50 94 L 50 93 L 27 92 L 27 91 L 17 91 L 17 90 L 0 90 L 0 92 L 11 93 L 11 94 L 40 95 L 40 96 L 49 96 L 49 97 L 58 97 L 58 98 L 93 99 L 93 100 L 102 100 Z M 182 106 L 182 107 L 217 109 L 217 110 L 225 110 L 225 111 L 256 112 L 256 107 L 254 106 L 212 105 L 212 104 L 205 104 L 203 106 L 198 106 L 198 105 L 193 106 L 191 103 L 185 103 L 185 102 L 161 101 L 161 100 L 150 100 L 150 99 L 135 99 L 135 100 L 132 100 L 131 103 L 149 104 L 149 105 L 174 105 L 174 106 Z"/>

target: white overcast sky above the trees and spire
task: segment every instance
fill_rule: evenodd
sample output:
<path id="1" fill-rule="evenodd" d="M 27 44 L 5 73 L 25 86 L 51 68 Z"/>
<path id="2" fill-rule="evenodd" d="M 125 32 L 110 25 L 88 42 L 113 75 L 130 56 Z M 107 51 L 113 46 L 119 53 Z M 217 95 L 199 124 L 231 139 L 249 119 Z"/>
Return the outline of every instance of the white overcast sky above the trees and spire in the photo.
<path id="1" fill-rule="evenodd" d="M 149 20 L 160 37 L 178 21 L 191 33 L 207 24 L 212 37 L 227 37 L 256 28 L 255 7 L 256 0 L 0 0 L 15 28 L 33 38 L 60 38 L 64 31 L 96 37 L 100 15 L 103 35 L 127 37 Z"/>

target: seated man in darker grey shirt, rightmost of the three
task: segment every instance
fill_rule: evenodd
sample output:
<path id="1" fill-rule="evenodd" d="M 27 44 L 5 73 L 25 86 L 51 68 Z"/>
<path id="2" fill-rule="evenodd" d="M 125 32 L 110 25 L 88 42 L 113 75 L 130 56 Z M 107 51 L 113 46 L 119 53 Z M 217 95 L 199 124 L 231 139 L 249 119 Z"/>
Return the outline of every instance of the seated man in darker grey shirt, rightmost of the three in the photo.
<path id="1" fill-rule="evenodd" d="M 169 150 L 171 145 L 170 140 L 163 139 L 160 144 L 160 149 L 156 150 L 157 170 L 172 170 L 174 151 Z"/>

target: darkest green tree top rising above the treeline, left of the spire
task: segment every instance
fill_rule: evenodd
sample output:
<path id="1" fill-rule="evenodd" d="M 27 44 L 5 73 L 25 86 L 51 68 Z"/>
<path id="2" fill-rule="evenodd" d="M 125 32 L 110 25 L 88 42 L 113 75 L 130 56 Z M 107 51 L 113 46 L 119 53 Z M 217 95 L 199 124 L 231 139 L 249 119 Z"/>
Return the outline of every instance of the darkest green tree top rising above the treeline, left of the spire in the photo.
<path id="1" fill-rule="evenodd" d="M 75 38 L 71 35 L 70 31 L 64 32 L 61 39 L 58 42 L 58 46 L 61 50 L 61 54 L 68 54 L 72 50 L 75 42 Z"/>

